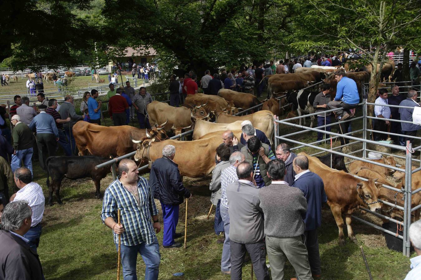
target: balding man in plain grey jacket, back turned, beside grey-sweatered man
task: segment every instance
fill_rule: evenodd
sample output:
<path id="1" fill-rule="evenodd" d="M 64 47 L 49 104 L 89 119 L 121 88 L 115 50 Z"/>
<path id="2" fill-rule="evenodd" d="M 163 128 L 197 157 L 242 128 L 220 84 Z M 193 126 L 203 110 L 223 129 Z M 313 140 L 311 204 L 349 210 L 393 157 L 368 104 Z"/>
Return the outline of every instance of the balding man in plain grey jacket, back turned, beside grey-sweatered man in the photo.
<path id="1" fill-rule="evenodd" d="M 253 181 L 253 166 L 242 162 L 237 167 L 238 181 L 226 187 L 228 213 L 231 220 L 231 279 L 241 279 L 245 251 L 253 262 L 258 280 L 269 280 L 266 267 L 263 211 L 258 198 L 259 188 Z"/>

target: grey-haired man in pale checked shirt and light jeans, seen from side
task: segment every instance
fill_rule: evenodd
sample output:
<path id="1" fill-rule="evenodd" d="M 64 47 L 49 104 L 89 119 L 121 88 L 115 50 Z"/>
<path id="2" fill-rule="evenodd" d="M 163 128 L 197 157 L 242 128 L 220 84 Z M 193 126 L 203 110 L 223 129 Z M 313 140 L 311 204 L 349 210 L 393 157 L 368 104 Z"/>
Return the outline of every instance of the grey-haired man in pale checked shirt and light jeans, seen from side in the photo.
<path id="1" fill-rule="evenodd" d="M 224 274 L 231 274 L 231 246 L 229 241 L 229 215 L 228 215 L 228 199 L 226 198 L 226 186 L 238 181 L 237 166 L 245 160 L 244 154 L 233 152 L 229 157 L 229 167 L 221 172 L 221 207 L 220 213 L 224 222 L 225 241 L 222 247 L 221 271 Z"/>

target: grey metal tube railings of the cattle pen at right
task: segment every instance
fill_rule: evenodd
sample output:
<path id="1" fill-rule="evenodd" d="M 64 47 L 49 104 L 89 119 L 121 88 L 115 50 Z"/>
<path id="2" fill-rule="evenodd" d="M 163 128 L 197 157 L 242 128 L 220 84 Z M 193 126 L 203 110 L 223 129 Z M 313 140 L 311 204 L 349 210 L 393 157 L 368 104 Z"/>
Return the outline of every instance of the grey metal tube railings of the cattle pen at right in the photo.
<path id="1" fill-rule="evenodd" d="M 376 131 L 376 130 L 373 130 L 373 129 L 369 129 L 368 128 L 368 120 L 369 119 L 378 120 L 378 119 L 381 119 L 381 118 L 372 117 L 372 116 L 368 115 L 368 112 L 367 112 L 368 105 L 375 105 L 375 103 L 369 103 L 367 101 L 367 99 L 363 99 L 363 101 L 358 105 L 358 107 L 362 108 L 362 116 L 338 122 L 338 123 L 348 123 L 348 122 L 353 122 L 354 120 L 359 120 L 359 119 L 362 120 L 362 128 L 361 129 L 357 129 L 355 131 L 350 131 L 350 132 L 347 132 L 347 133 L 344 133 L 344 134 L 334 133 L 334 132 L 323 130 L 323 128 L 326 128 L 328 126 L 336 126 L 338 123 L 331 123 L 329 125 L 311 128 L 311 127 L 301 126 L 301 125 L 290 122 L 290 121 L 294 121 L 294 120 L 299 120 L 301 118 L 315 116 L 315 115 L 320 114 L 320 113 L 312 113 L 312 114 L 302 115 L 302 116 L 299 116 L 299 117 L 288 118 L 288 119 L 285 119 L 285 120 L 274 120 L 274 131 L 275 131 L 274 143 L 275 143 L 275 146 L 276 146 L 278 144 L 278 142 L 281 140 L 281 141 L 285 141 L 285 142 L 289 142 L 289 143 L 293 143 L 293 144 L 298 145 L 294 148 L 291 148 L 291 150 L 299 149 L 299 148 L 302 148 L 302 147 L 310 147 L 312 149 L 316 149 L 316 150 L 320 151 L 320 152 L 316 152 L 314 154 L 311 154 L 311 156 L 315 156 L 317 154 L 322 154 L 324 152 L 328 152 L 330 154 L 337 154 L 337 155 L 340 155 L 340 156 L 347 157 L 347 158 L 351 159 L 352 161 L 360 160 L 362 162 L 368 162 L 368 163 L 378 165 L 378 166 L 381 166 L 381 167 L 386 167 L 386 168 L 389 168 L 389 169 L 392 169 L 392 170 L 395 170 L 395 171 L 405 172 L 405 187 L 404 188 L 402 187 L 402 189 L 399 189 L 399 188 L 395 188 L 393 186 L 388 186 L 388 185 L 384 185 L 384 184 L 382 185 L 383 188 L 387 188 L 389 190 L 392 190 L 392 191 L 396 192 L 395 193 L 395 203 L 393 204 L 393 203 L 390 203 L 388 201 L 378 199 L 378 202 L 381 202 L 383 204 L 388 205 L 389 207 L 392 207 L 391 209 L 396 208 L 396 209 L 399 209 L 399 210 L 403 211 L 404 215 L 403 215 L 403 221 L 402 222 L 398 221 L 398 220 L 395 220 L 391 217 L 382 215 L 380 213 L 370 211 L 369 209 L 360 208 L 363 211 L 369 212 L 370 214 L 376 215 L 377 217 L 380 217 L 384 220 L 388 220 L 390 222 L 396 223 L 397 225 L 403 226 L 402 234 L 397 234 L 396 232 L 386 230 L 386 229 L 384 229 L 384 228 L 382 228 L 378 225 L 375 225 L 372 222 L 368 222 L 366 220 L 360 219 L 359 217 L 355 217 L 355 215 L 352 215 L 352 218 L 354 218 L 355 220 L 358 220 L 359 222 L 362 222 L 364 224 L 370 225 L 370 226 L 372 226 L 372 227 L 374 227 L 378 230 L 381 230 L 385 234 L 397 236 L 397 238 L 399 238 L 403 241 L 402 242 L 402 254 L 409 257 L 410 256 L 410 240 L 409 240 L 409 230 L 408 229 L 409 229 L 409 226 L 410 226 L 410 223 L 411 223 L 411 213 L 413 213 L 413 212 L 415 212 L 415 211 L 417 211 L 418 209 L 421 208 L 421 205 L 411 207 L 411 196 L 418 193 L 419 191 L 421 191 L 421 188 L 418 188 L 418 189 L 415 189 L 415 190 L 413 190 L 411 188 L 412 174 L 421 170 L 421 167 L 418 167 L 418 168 L 412 170 L 412 162 L 413 161 L 418 162 L 418 164 L 420 162 L 419 159 L 418 160 L 413 159 L 412 154 L 416 151 L 419 151 L 421 149 L 421 146 L 412 147 L 412 145 L 410 144 L 410 141 L 407 141 L 406 147 L 403 147 L 403 146 L 398 146 L 398 145 L 393 145 L 393 144 L 381 143 L 381 142 L 378 142 L 378 141 L 372 141 L 372 140 L 368 140 L 367 138 L 368 138 L 368 133 L 370 133 L 370 132 L 371 133 L 384 133 L 384 134 L 389 134 L 389 135 L 394 135 L 394 136 L 409 137 L 409 138 L 416 139 L 417 143 L 419 143 L 421 141 L 421 138 L 415 137 L 415 136 L 405 136 L 405 135 L 397 134 L 397 133 L 390 133 L 390 132 L 383 132 L 383 131 Z M 399 107 L 399 108 L 413 108 L 413 107 L 404 107 L 404 106 L 396 106 L 396 105 L 384 105 L 384 106 Z M 338 110 L 338 109 L 326 110 L 325 113 L 334 112 L 336 110 Z M 381 119 L 381 120 L 389 120 L 389 121 L 395 121 L 395 122 L 400 122 L 400 123 L 405 123 L 405 122 L 406 123 L 412 123 L 412 122 L 408 122 L 408 121 L 404 121 L 404 120 L 392 120 L 392 119 L 384 119 L 384 118 Z M 291 127 L 299 128 L 299 129 L 302 129 L 302 130 L 298 131 L 298 132 L 279 135 L 279 131 L 280 131 L 279 125 L 291 126 Z M 312 132 L 312 131 L 324 133 L 325 135 L 329 134 L 330 138 L 326 139 L 326 136 L 325 136 L 325 139 L 323 139 L 321 141 L 313 141 L 311 143 L 304 143 L 302 141 L 299 141 L 300 139 L 297 139 L 297 140 L 291 139 L 293 136 L 297 136 L 297 135 L 300 135 L 301 133 L 308 133 L 308 132 Z M 361 134 L 361 133 L 362 133 L 362 137 L 351 136 L 351 134 L 356 135 L 356 134 Z M 342 138 L 344 140 L 347 139 L 347 140 L 353 141 L 353 142 L 342 144 L 338 147 L 332 147 L 332 140 L 335 140 L 335 139 L 338 139 L 338 138 Z M 323 148 L 323 147 L 316 146 L 316 144 L 320 144 L 325 140 L 330 140 L 330 148 L 326 148 L 326 147 Z M 357 150 L 355 150 L 353 152 L 349 152 L 349 153 L 344 153 L 344 152 L 338 151 L 338 149 L 341 149 L 341 148 L 344 148 L 344 147 L 347 147 L 347 146 L 350 146 L 350 145 L 355 145 L 355 144 L 362 144 L 361 149 L 357 149 Z M 386 148 L 390 148 L 390 149 L 396 149 L 396 150 L 405 152 L 405 156 L 400 156 L 400 155 L 391 154 L 391 153 L 387 153 L 387 152 L 380 152 L 380 151 L 376 151 L 374 149 L 368 149 L 368 145 L 370 145 L 370 144 L 371 145 L 378 145 L 378 146 L 382 146 L 382 147 L 386 147 Z M 374 147 L 376 147 L 376 146 L 374 146 Z M 394 157 L 401 158 L 402 160 L 405 160 L 405 169 L 395 167 L 395 166 L 385 165 L 385 164 L 382 164 L 382 163 L 379 163 L 379 162 L 370 161 L 370 160 L 368 160 L 368 154 L 367 154 L 368 152 L 377 152 L 377 153 L 380 153 L 380 154 L 392 155 Z M 353 154 L 357 154 L 357 153 L 362 153 L 362 157 L 357 157 L 357 156 L 353 155 Z M 362 180 L 362 181 L 368 181 L 368 179 L 359 177 L 357 175 L 353 175 L 353 176 Z M 399 194 L 399 193 L 402 194 L 402 196 L 403 196 L 403 200 L 404 200 L 404 206 L 403 207 L 397 205 L 396 194 Z"/>

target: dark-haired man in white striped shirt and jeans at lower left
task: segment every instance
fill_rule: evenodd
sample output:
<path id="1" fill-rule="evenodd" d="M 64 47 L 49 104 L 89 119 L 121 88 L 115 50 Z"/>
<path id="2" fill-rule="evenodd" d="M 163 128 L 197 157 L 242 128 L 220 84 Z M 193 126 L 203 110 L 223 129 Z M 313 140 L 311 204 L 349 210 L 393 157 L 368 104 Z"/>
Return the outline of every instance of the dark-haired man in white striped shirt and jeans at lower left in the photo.
<path id="1" fill-rule="evenodd" d="M 45 197 L 40 185 L 32 182 L 32 173 L 26 167 L 16 169 L 14 180 L 19 191 L 10 197 L 13 200 L 25 200 L 32 209 L 31 228 L 25 233 L 24 238 L 29 240 L 29 247 L 37 251 L 41 236 L 41 221 L 44 215 Z"/>

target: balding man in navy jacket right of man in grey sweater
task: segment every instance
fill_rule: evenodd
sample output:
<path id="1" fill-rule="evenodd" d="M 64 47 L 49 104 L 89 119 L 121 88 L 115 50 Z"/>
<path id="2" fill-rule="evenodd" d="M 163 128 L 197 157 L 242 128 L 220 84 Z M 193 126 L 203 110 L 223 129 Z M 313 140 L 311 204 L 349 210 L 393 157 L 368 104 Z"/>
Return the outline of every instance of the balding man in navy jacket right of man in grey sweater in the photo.
<path id="1" fill-rule="evenodd" d="M 304 218 L 304 235 L 306 247 L 309 253 L 309 263 L 314 278 L 320 277 L 320 254 L 319 241 L 317 240 L 317 228 L 322 223 L 322 205 L 328 198 L 325 194 L 325 186 L 319 175 L 309 170 L 309 160 L 305 156 L 297 156 L 293 162 L 295 181 L 293 187 L 299 188 L 307 201 L 307 212 Z"/>

